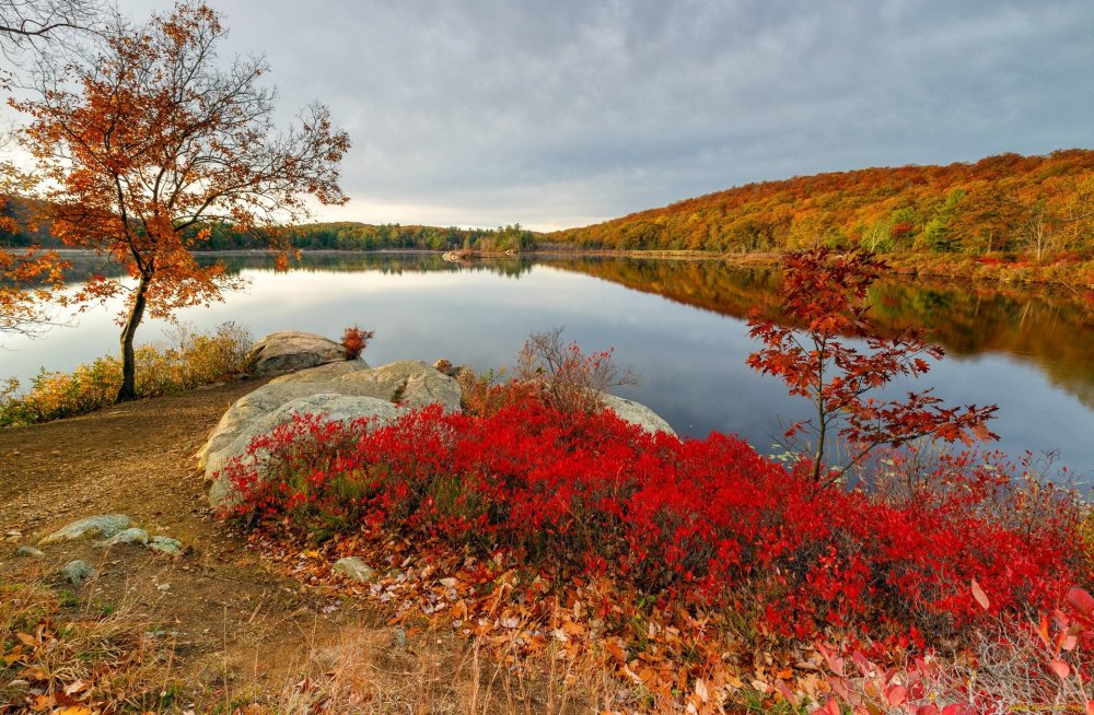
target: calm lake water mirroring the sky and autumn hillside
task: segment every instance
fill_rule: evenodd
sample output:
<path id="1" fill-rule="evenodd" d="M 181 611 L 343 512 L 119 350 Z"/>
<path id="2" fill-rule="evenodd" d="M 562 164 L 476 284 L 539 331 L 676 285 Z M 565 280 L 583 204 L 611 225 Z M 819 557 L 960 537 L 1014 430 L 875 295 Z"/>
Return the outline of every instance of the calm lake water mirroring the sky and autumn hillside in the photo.
<path id="1" fill-rule="evenodd" d="M 777 276 L 715 262 L 627 259 L 511 260 L 475 268 L 437 256 L 313 255 L 288 273 L 265 257 L 231 257 L 249 286 L 179 319 L 226 320 L 256 337 L 299 329 L 336 338 L 349 325 L 375 330 L 365 352 L 393 360 L 447 358 L 476 370 L 512 363 L 533 330 L 566 326 L 583 348 L 614 347 L 643 382 L 620 395 L 644 402 L 682 434 L 735 432 L 761 450 L 780 420 L 804 417 L 781 384 L 745 365 L 755 343 L 742 316 L 769 303 Z M 886 330 L 934 330 L 947 358 L 916 384 L 954 403 L 997 403 L 992 429 L 1012 455 L 1059 452 L 1059 464 L 1094 474 L 1094 315 L 1080 301 L 946 283 L 891 282 L 872 295 Z M 114 352 L 114 313 L 95 308 L 44 339 L 3 338 L 0 377 L 71 370 Z M 168 328 L 148 321 L 139 339 Z"/>

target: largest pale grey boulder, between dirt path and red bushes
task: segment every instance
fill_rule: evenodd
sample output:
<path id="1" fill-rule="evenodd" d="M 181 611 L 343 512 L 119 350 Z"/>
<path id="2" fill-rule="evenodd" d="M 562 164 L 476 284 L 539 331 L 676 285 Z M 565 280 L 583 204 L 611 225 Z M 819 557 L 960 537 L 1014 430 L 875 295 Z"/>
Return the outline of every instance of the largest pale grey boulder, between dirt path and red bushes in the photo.
<path id="1" fill-rule="evenodd" d="M 340 421 L 372 418 L 385 423 L 403 410 L 433 403 L 456 412 L 459 397 L 455 379 L 421 361 L 375 368 L 350 361 L 272 379 L 229 408 L 198 454 L 199 468 L 212 481 L 209 502 L 213 507 L 231 504 L 235 495 L 221 470 L 233 458 L 260 459 L 261 455 L 246 454 L 247 445 L 295 415 L 322 414 Z"/>

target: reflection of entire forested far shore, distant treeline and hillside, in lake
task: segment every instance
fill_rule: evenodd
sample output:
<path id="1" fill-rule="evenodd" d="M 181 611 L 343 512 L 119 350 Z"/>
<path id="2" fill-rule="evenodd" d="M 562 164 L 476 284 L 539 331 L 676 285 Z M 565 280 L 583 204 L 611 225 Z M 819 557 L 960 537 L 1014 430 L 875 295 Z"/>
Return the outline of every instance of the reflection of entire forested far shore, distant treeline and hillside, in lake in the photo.
<path id="1" fill-rule="evenodd" d="M 91 273 L 118 276 L 102 258 L 69 255 L 72 281 Z M 228 272 L 272 271 L 272 257 L 258 251 L 201 255 Z M 491 271 L 520 278 L 535 265 L 583 273 L 678 303 L 744 318 L 753 306 L 773 310 L 779 271 L 736 268 L 718 260 L 638 258 L 490 258 L 467 263 L 434 253 L 306 253 L 292 270 L 386 274 Z M 883 333 L 918 327 L 955 355 L 1004 353 L 1035 364 L 1054 384 L 1094 408 L 1094 312 L 1079 296 L 1045 288 L 967 281 L 883 280 L 870 291 L 873 318 Z"/>

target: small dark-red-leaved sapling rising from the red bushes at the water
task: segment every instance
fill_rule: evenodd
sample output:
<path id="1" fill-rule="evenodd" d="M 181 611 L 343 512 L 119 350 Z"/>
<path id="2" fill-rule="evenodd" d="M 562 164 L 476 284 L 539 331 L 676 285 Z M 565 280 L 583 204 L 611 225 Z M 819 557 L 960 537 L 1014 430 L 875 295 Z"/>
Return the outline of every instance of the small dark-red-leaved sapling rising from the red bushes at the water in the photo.
<path id="1" fill-rule="evenodd" d="M 783 308 L 796 327 L 779 325 L 754 309 L 749 335 L 764 348 L 748 365 L 777 375 L 791 395 L 808 399 L 814 417 L 796 422 L 785 437 L 799 452 L 810 452 L 813 480 L 828 485 L 876 447 L 899 447 L 920 437 L 953 442 L 971 436 L 994 439 L 985 426 L 994 406 L 942 407 L 931 390 L 908 392 L 903 400 L 870 397 L 897 376 L 918 377 L 930 370 L 926 359 L 941 360 L 942 348 L 929 345 L 915 331 L 876 338 L 866 318 L 866 289 L 884 263 L 872 254 L 836 255 L 827 247 L 788 254 Z M 863 341 L 857 348 L 843 337 Z M 825 465 L 834 437 L 847 448 L 842 466 Z M 804 444 L 803 444 L 804 442 Z"/>

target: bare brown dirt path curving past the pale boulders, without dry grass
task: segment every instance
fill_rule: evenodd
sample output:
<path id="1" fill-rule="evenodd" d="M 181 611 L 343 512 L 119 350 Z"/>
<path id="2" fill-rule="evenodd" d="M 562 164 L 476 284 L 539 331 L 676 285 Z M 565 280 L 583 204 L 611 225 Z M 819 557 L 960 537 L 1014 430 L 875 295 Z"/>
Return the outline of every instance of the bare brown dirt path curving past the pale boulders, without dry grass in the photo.
<path id="1" fill-rule="evenodd" d="M 83 608 L 124 609 L 173 636 L 174 675 L 188 685 L 181 698 L 198 710 L 203 701 L 245 700 L 248 689 L 277 690 L 317 644 L 370 620 L 264 569 L 208 508 L 194 454 L 224 410 L 260 384 L 218 385 L 0 431 L 0 579 L 58 584 L 54 574 L 69 560 L 91 564 L 94 581 L 58 587 L 75 591 L 70 600 Z M 136 546 L 107 551 L 82 540 L 42 547 L 43 559 L 13 555 L 72 520 L 107 513 L 181 539 L 185 554 Z M 371 631 L 374 644 L 391 637 Z"/>

